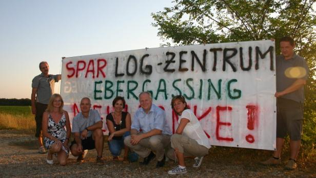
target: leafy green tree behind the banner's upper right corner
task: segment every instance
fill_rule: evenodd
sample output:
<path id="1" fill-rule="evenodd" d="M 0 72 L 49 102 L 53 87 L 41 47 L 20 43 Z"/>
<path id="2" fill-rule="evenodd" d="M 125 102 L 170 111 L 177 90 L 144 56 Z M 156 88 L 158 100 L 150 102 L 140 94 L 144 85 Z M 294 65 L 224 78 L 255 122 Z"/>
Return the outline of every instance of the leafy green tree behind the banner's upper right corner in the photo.
<path id="1" fill-rule="evenodd" d="M 303 144 L 316 145 L 316 1 L 304 0 L 175 0 L 173 7 L 152 13 L 162 46 L 279 39 L 291 36 L 296 53 L 305 57 L 309 77 L 305 87 Z"/>

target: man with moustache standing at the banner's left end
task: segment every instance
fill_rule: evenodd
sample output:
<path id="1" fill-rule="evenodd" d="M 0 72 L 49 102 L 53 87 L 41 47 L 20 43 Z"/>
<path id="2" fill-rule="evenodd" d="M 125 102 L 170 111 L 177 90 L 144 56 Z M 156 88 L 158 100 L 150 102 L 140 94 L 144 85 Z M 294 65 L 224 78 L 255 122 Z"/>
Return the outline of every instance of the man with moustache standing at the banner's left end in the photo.
<path id="1" fill-rule="evenodd" d="M 38 152 L 46 153 L 42 140 L 42 120 L 43 113 L 47 108 L 50 96 L 54 93 L 54 83 L 61 80 L 62 75 L 50 75 L 49 66 L 46 61 L 39 63 L 41 74 L 35 76 L 32 80 L 31 104 L 32 113 L 35 114 L 36 133 L 38 138 Z"/>

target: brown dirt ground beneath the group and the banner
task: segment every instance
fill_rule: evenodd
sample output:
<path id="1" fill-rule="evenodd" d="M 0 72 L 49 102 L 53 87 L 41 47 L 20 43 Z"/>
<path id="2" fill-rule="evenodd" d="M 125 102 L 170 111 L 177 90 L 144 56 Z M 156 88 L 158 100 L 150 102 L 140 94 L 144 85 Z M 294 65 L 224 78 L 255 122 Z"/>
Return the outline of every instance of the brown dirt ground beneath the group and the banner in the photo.
<path id="1" fill-rule="evenodd" d="M 176 166 L 174 162 L 168 161 L 165 167 L 159 169 L 155 168 L 155 160 L 148 166 L 114 162 L 111 161 L 107 144 L 103 166 L 94 164 L 94 150 L 88 152 L 85 162 L 81 164 L 69 159 L 66 166 L 58 165 L 56 160 L 53 165 L 48 165 L 46 154 L 37 153 L 33 134 L 21 131 L 0 130 L 0 148 L 0 177 L 316 177 L 313 163 L 299 164 L 294 171 L 284 169 L 286 161 L 280 166 L 259 165 L 259 160 L 270 154 L 265 151 L 254 152 L 245 159 L 243 151 L 230 155 L 211 148 L 200 168 L 193 168 L 193 160 L 186 160 L 188 173 L 168 175 L 167 171 Z"/>

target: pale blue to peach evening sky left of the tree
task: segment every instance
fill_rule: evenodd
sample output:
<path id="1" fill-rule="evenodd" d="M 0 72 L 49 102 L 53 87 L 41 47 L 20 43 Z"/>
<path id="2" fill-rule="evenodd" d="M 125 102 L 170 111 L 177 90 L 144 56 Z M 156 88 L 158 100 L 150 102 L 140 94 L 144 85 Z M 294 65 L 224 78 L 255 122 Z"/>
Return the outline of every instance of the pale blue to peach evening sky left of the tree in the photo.
<path id="1" fill-rule="evenodd" d="M 0 98 L 30 98 L 41 61 L 60 74 L 63 56 L 159 47 L 150 13 L 170 6 L 171 0 L 0 0 Z"/>

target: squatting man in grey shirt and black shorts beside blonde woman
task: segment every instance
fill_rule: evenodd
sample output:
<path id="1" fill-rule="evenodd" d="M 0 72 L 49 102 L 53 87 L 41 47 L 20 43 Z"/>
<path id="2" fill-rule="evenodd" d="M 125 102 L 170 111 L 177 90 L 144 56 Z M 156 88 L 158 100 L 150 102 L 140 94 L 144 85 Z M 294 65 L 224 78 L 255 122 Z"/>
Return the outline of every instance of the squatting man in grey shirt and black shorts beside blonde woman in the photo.
<path id="1" fill-rule="evenodd" d="M 100 114 L 92 110 L 91 101 L 88 97 L 82 98 L 80 102 L 81 112 L 72 120 L 72 133 L 74 141 L 70 150 L 72 155 L 78 156 L 77 161 L 83 161 L 84 150 L 96 149 L 96 163 L 103 164 L 103 122 Z"/>

